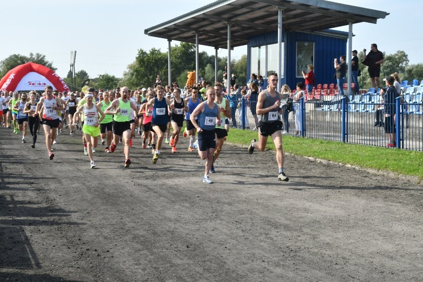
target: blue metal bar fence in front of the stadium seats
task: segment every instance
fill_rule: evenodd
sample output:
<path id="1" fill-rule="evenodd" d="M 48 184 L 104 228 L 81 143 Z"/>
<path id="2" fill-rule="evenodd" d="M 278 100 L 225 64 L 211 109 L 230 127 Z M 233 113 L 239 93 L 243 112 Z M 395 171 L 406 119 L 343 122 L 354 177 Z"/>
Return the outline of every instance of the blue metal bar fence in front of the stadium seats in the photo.
<path id="1" fill-rule="evenodd" d="M 283 113 L 283 134 L 306 138 L 340 141 L 370 146 L 386 147 L 388 135 L 385 134 L 383 107 L 379 95 L 356 95 L 347 102 L 304 101 L 293 102 L 296 111 Z M 236 110 L 237 127 L 257 130 L 256 117 L 250 107 L 255 105 L 241 99 L 241 107 Z M 396 147 L 423 151 L 422 95 L 401 104 L 398 98 L 395 107 Z M 298 134 L 299 133 L 299 134 Z"/>

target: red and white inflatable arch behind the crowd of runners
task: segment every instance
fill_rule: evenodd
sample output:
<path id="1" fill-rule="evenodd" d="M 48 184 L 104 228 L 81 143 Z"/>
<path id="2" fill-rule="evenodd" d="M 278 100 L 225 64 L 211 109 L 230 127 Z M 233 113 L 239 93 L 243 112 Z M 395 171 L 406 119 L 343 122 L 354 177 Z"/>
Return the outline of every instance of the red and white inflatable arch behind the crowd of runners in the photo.
<path id="1" fill-rule="evenodd" d="M 52 85 L 58 91 L 69 91 L 66 82 L 53 70 L 35 63 L 26 63 L 9 70 L 0 80 L 1 91 L 44 91 Z"/>

